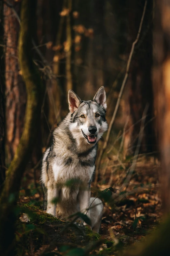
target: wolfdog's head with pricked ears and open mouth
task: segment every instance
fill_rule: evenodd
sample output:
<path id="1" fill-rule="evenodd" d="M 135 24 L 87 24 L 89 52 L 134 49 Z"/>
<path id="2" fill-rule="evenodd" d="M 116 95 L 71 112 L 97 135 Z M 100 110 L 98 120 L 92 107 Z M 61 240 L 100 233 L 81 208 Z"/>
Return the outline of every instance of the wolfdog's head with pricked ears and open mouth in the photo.
<path id="1" fill-rule="evenodd" d="M 104 86 L 95 94 L 93 100 L 83 101 L 72 90 L 68 91 L 71 113 L 69 126 L 73 137 L 87 144 L 95 144 L 107 130 L 106 92 Z"/>

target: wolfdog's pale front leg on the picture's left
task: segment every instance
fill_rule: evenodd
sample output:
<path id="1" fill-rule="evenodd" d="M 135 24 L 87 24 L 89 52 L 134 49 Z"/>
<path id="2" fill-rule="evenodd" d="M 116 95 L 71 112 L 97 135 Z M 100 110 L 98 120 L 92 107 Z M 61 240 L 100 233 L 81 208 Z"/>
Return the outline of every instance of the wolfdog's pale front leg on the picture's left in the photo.
<path id="1" fill-rule="evenodd" d="M 58 189 L 56 184 L 48 182 L 47 184 L 47 213 L 55 216 L 56 213 L 56 198 L 58 197 Z"/>

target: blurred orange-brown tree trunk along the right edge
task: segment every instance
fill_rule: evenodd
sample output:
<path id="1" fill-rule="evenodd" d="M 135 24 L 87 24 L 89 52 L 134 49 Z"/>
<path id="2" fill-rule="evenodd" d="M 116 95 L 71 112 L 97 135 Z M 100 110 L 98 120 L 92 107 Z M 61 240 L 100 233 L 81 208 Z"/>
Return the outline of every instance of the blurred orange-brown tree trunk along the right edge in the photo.
<path id="1" fill-rule="evenodd" d="M 162 202 L 170 212 L 170 1 L 156 1 L 153 89 L 157 135 L 161 149 Z"/>

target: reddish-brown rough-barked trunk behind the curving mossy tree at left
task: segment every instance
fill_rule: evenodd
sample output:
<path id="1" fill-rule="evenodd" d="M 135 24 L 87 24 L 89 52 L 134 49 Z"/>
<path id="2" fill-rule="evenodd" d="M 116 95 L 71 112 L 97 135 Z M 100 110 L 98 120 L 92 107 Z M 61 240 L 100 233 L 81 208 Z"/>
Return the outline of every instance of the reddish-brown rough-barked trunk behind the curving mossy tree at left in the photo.
<path id="1" fill-rule="evenodd" d="M 10 1 L 11 5 L 15 3 L 15 0 Z M 19 13 L 20 3 L 16 5 L 15 11 Z M 4 4 L 7 164 L 12 161 L 21 138 L 26 105 L 26 89 L 18 63 L 19 29 L 20 24 L 13 9 Z"/>

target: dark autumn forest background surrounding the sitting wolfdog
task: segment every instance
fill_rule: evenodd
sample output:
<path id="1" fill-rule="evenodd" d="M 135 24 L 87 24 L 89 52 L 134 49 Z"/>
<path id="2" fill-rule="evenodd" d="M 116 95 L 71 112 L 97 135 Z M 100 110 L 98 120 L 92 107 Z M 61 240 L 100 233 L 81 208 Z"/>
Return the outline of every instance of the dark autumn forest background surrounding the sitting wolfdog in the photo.
<path id="1" fill-rule="evenodd" d="M 115 255 L 117 244 L 143 240 L 169 213 L 169 17 L 169 0 L 0 1 L 2 255 Z M 99 143 L 92 194 L 104 195 L 107 242 L 91 237 L 73 246 L 54 234 L 48 240 L 37 216 L 21 224 L 19 215 L 45 214 L 29 207 L 42 209 L 42 155 L 68 112 L 68 90 L 90 100 L 101 86 L 109 131 Z M 168 236 L 166 228 L 160 234 Z M 161 239 L 155 232 L 126 255 L 169 255 Z"/>

